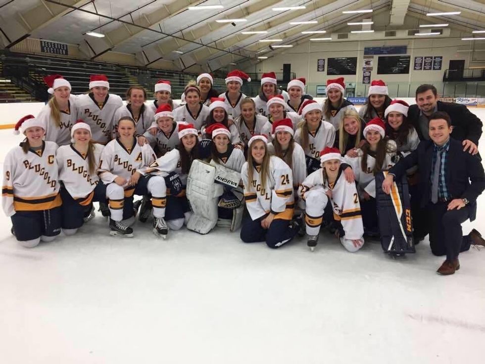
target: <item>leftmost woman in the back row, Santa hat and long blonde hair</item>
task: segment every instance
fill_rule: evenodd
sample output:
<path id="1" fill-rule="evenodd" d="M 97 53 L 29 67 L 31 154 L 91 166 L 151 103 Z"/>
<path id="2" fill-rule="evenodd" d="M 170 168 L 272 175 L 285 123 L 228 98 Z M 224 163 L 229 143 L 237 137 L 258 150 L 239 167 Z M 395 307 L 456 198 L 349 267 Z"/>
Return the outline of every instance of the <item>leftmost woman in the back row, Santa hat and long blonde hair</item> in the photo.
<path id="1" fill-rule="evenodd" d="M 71 95 L 71 85 L 61 75 L 44 77 L 48 93 L 53 95 L 37 115 L 46 126 L 46 138 L 57 145 L 71 141 L 71 127 L 76 122 L 76 97 Z"/>

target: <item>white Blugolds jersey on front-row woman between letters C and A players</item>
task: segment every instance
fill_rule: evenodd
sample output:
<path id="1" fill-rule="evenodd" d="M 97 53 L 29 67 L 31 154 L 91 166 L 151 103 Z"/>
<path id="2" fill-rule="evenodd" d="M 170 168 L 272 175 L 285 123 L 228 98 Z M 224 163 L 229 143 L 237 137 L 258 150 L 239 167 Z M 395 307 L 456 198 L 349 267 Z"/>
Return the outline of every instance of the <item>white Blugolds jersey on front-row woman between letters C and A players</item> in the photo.
<path id="1" fill-rule="evenodd" d="M 72 144 L 59 147 L 55 155 L 59 166 L 59 180 L 62 181 L 73 199 L 83 199 L 80 202 L 83 206 L 91 203 L 94 189 L 99 181 L 97 168 L 99 167 L 104 146 L 95 144 L 94 147 L 96 169 L 92 174 L 89 171 L 87 157 L 74 149 Z"/>

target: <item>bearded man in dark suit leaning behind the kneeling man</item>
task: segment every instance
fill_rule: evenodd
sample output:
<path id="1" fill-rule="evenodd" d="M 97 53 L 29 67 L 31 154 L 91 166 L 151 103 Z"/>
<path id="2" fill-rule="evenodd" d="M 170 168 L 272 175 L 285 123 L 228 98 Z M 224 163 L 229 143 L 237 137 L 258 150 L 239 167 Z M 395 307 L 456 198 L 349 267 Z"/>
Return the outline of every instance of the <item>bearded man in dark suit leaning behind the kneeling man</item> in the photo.
<path id="1" fill-rule="evenodd" d="M 482 135 L 482 121 L 461 104 L 438 101 L 436 87 L 421 85 L 416 89 L 416 104 L 409 106 L 407 119 L 418 132 L 420 140 L 430 140 L 428 124 L 436 111 L 444 111 L 451 118 L 451 137 L 463 144 L 463 150 L 478 153 L 478 141 Z"/>

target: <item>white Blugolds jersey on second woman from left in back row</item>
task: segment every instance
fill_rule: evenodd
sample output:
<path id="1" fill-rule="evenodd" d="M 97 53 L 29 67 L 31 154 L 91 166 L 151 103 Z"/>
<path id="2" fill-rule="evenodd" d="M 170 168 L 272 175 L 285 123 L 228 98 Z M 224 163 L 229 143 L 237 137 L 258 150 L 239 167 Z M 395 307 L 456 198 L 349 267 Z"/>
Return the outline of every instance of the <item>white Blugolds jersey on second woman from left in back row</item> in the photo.
<path id="1" fill-rule="evenodd" d="M 113 118 L 116 110 L 123 105 L 118 95 L 108 94 L 100 107 L 91 94 L 76 97 L 77 119 L 83 119 L 91 127 L 92 139 L 106 144 L 113 134 Z"/>

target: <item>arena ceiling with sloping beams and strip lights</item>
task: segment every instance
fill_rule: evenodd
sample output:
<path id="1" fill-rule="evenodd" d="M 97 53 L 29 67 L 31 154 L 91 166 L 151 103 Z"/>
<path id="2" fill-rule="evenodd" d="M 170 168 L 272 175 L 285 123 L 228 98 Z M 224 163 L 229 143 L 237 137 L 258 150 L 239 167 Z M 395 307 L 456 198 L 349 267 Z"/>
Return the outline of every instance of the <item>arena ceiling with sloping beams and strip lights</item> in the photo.
<path id="1" fill-rule="evenodd" d="M 222 5 L 223 8 L 191 10 L 189 6 Z M 274 7 L 304 6 L 293 10 Z M 372 13 L 342 11 L 372 9 Z M 430 12 L 460 11 L 458 15 L 426 16 Z M 244 19 L 220 23 L 216 20 Z M 372 20 L 372 25 L 347 22 Z M 291 24 L 313 21 L 311 24 Z M 0 35 L 3 47 L 27 37 L 79 45 L 87 58 L 107 52 L 132 54 L 140 65 L 163 64 L 170 68 L 216 70 L 228 64 L 257 62 L 310 38 L 389 40 L 385 31 L 420 30 L 424 24 L 449 24 L 438 37 L 472 37 L 485 28 L 485 0 L 0 0 Z M 302 34 L 323 31 L 324 34 Z M 267 32 L 242 34 L 247 31 Z M 86 35 L 103 34 L 103 38 Z M 404 34 L 404 33 L 399 33 Z M 408 37 L 408 33 L 406 33 Z M 426 38 L 410 36 L 409 38 Z M 429 36 L 432 37 L 432 36 Z M 281 39 L 269 43 L 261 40 Z M 401 38 L 402 39 L 402 38 Z M 163 63 L 160 63 L 163 62 Z"/>

